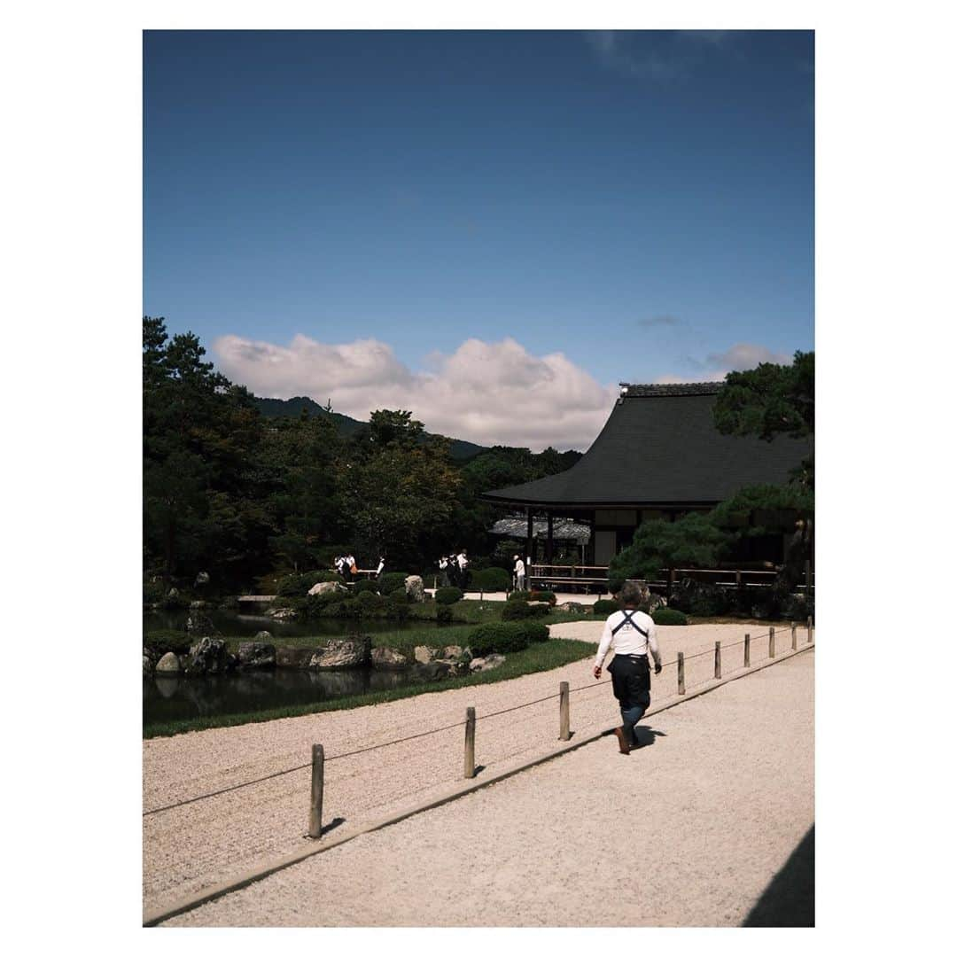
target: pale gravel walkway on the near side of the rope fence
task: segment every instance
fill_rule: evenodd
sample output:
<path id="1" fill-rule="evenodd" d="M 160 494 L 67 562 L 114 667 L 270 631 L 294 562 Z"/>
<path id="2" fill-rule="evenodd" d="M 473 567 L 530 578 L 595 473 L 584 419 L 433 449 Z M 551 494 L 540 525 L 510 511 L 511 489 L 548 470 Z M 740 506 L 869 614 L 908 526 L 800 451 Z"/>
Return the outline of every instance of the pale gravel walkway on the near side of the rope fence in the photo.
<path id="1" fill-rule="evenodd" d="M 813 652 L 644 726 L 168 923 L 741 925 L 813 823 Z"/>

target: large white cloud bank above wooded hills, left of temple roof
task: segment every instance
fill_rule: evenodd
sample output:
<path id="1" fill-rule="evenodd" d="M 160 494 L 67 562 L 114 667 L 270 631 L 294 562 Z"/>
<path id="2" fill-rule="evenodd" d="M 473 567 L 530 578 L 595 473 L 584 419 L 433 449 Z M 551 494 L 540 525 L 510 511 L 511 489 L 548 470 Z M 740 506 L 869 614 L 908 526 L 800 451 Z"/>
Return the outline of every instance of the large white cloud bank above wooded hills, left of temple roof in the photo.
<path id="1" fill-rule="evenodd" d="M 328 345 L 297 335 L 275 345 L 222 336 L 212 348 L 219 370 L 256 395 L 331 398 L 336 412 L 362 420 L 374 409 L 407 409 L 429 432 L 533 451 L 584 451 L 618 394 L 563 353 L 534 356 L 514 339 L 469 339 L 451 355 L 431 353 L 426 372 L 374 339 Z"/>

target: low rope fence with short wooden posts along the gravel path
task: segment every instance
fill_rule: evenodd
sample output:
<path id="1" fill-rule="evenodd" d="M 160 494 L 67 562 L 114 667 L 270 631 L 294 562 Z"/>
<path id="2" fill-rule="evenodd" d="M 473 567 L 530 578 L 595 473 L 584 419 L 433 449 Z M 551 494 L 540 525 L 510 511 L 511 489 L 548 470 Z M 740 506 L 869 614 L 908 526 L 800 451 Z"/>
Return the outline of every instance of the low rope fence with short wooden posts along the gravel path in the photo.
<path id="1" fill-rule="evenodd" d="M 812 619 L 809 618 L 806 627 L 806 639 L 805 646 L 812 643 L 813 637 L 813 624 Z M 797 632 L 796 626 L 792 625 L 790 629 L 790 652 L 794 652 L 798 649 L 797 641 Z M 768 632 L 765 634 L 750 635 L 746 634 L 741 641 L 734 641 L 729 644 L 723 645 L 720 641 L 715 642 L 715 648 L 713 651 L 703 651 L 698 652 L 694 655 L 685 656 L 683 652 L 678 653 L 678 657 L 672 661 L 663 662 L 661 665 L 661 670 L 664 671 L 665 668 L 670 668 L 673 665 L 678 665 L 678 694 L 684 695 L 686 692 L 685 683 L 684 683 L 684 665 L 686 661 L 694 660 L 695 658 L 705 657 L 705 656 L 714 656 L 715 659 L 715 679 L 720 679 L 722 677 L 722 652 L 727 651 L 729 648 L 737 648 L 741 645 L 745 646 L 745 662 L 742 667 L 730 669 L 730 673 L 741 671 L 743 668 L 749 668 L 751 666 L 750 660 L 750 646 L 751 643 L 759 640 L 761 638 L 768 638 L 768 658 L 773 658 L 775 656 L 774 649 L 774 629 L 768 629 Z M 765 659 L 762 659 L 765 660 Z M 151 808 L 148 811 L 143 812 L 144 817 L 148 817 L 151 814 L 158 814 L 160 812 L 172 811 L 175 808 L 182 808 L 189 804 L 195 804 L 197 801 L 204 801 L 212 797 L 218 797 L 221 794 L 229 793 L 230 791 L 240 790 L 242 788 L 249 788 L 257 784 L 261 784 L 264 781 L 271 781 L 275 778 L 282 777 L 286 774 L 293 774 L 296 771 L 305 770 L 306 768 L 312 768 L 312 790 L 310 795 L 310 812 L 309 812 L 309 836 L 319 838 L 322 833 L 322 805 L 323 805 L 323 770 L 324 766 L 330 761 L 341 761 L 344 758 L 351 758 L 358 754 L 366 754 L 368 751 L 379 750 L 383 747 L 391 747 L 393 745 L 401 745 L 408 741 L 415 741 L 419 738 L 426 738 L 434 734 L 440 734 L 443 731 L 451 731 L 456 727 L 465 728 L 465 765 L 464 765 L 464 776 L 466 778 L 471 778 L 475 776 L 475 730 L 476 724 L 480 721 L 485 721 L 488 718 L 497 718 L 500 715 L 509 714 L 513 711 L 519 711 L 522 708 L 531 707 L 534 704 L 542 704 L 545 701 L 555 701 L 558 699 L 560 701 L 560 731 L 559 739 L 561 741 L 568 741 L 571 737 L 569 731 L 569 697 L 570 695 L 581 692 L 581 691 L 593 691 L 597 688 L 604 688 L 605 686 L 611 684 L 611 679 L 597 680 L 590 684 L 582 684 L 576 688 L 569 688 L 568 681 L 562 681 L 559 686 L 559 693 L 557 695 L 546 695 L 545 698 L 537 698 L 534 701 L 523 701 L 521 704 L 515 704 L 508 708 L 502 708 L 500 711 L 492 711 L 489 714 L 477 715 L 474 707 L 469 707 L 466 709 L 465 721 L 456 722 L 452 724 L 445 724 L 442 727 L 432 728 L 429 731 L 421 731 L 417 734 L 410 734 L 404 738 L 396 738 L 394 741 L 383 742 L 380 745 L 370 745 L 368 747 L 360 747 L 352 751 L 345 751 L 343 754 L 333 754 L 329 757 L 325 756 L 324 749 L 322 745 L 314 745 L 312 752 L 312 760 L 306 764 L 297 765 L 295 768 L 284 768 L 283 770 L 274 771 L 272 774 L 265 774 L 262 777 L 253 778 L 250 781 L 243 781 L 239 784 L 230 785 L 226 788 L 220 788 L 218 790 L 211 790 L 204 794 L 197 794 L 195 797 L 188 797 L 182 801 L 174 801 L 171 804 L 163 805 L 159 808 Z M 702 684 L 707 684 L 708 680 L 701 681 L 698 684 L 692 685 L 691 687 L 697 688 Z"/>

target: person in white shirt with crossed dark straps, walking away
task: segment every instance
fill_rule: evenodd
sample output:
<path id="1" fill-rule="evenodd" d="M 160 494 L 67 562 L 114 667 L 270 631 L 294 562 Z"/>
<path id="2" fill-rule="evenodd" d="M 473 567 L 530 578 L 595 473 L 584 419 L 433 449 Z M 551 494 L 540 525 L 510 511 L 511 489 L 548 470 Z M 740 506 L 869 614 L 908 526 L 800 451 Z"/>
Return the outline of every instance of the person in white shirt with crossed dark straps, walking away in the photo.
<path id="1" fill-rule="evenodd" d="M 648 653 L 655 658 L 655 674 L 661 673 L 661 656 L 658 653 L 655 622 L 650 614 L 638 611 L 645 595 L 634 582 L 625 582 L 618 595 L 622 610 L 614 612 L 605 621 L 598 644 L 591 674 L 601 678 L 602 664 L 610 649 L 614 657 L 608 671 L 612 676 L 612 693 L 621 708 L 622 726 L 614 729 L 618 748 L 628 754 L 637 744 L 634 725 L 648 710 L 652 702 L 652 679 L 648 667 Z"/>

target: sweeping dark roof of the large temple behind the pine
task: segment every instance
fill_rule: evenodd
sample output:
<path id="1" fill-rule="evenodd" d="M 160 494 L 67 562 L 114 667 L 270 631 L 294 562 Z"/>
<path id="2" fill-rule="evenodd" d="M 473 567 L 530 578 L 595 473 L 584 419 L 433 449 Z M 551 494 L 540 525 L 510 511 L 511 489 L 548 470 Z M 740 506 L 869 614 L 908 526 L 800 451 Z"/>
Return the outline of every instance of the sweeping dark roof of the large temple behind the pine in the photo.
<path id="1" fill-rule="evenodd" d="M 712 415 L 720 386 L 628 386 L 570 469 L 483 498 L 569 506 L 708 504 L 746 485 L 787 482 L 808 455 L 807 441 L 722 435 Z"/>

